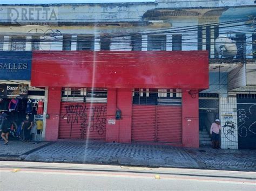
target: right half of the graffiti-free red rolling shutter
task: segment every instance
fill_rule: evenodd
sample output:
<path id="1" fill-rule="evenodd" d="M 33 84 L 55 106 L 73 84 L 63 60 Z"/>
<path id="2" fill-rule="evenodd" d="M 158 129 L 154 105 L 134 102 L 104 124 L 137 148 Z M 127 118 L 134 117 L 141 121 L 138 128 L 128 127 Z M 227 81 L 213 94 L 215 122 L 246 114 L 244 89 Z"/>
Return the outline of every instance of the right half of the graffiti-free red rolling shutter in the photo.
<path id="1" fill-rule="evenodd" d="M 181 143 L 180 106 L 157 106 L 157 142 Z"/>

